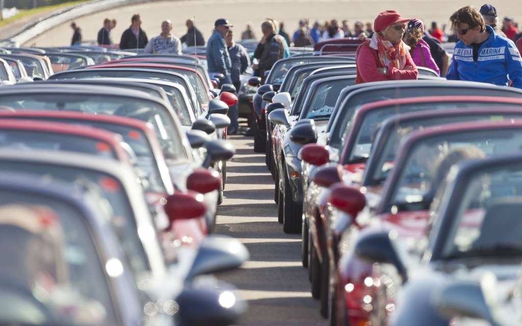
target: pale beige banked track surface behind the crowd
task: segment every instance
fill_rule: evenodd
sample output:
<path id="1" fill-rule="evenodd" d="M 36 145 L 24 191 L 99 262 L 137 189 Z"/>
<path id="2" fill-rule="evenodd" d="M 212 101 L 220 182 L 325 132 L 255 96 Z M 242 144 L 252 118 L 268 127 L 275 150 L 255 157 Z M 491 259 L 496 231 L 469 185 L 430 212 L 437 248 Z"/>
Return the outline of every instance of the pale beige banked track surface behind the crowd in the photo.
<path id="1" fill-rule="evenodd" d="M 289 34 L 293 34 L 300 19 L 309 19 L 311 23 L 327 19 L 342 21 L 347 19 L 349 26 L 357 20 L 371 21 L 383 10 L 395 9 L 403 17 L 421 18 L 426 25 L 436 21 L 439 25 L 447 24 L 449 16 L 458 8 L 473 5 L 480 8 L 484 2 L 466 0 L 170 0 L 141 5 L 126 6 L 75 19 L 83 31 L 84 40 L 96 40 L 103 19 L 113 17 L 117 25 L 112 31 L 113 40 L 119 43 L 120 37 L 131 23 L 135 13 L 141 15 L 142 28 L 151 38 L 160 33 L 161 21 L 170 19 L 173 24 L 172 34 L 181 37 L 186 32 L 185 20 L 195 18 L 196 27 L 203 32 L 205 39 L 210 37 L 213 23 L 217 18 L 227 18 L 234 24 L 235 38 L 239 39 L 246 23 L 251 21 L 257 38 L 261 37 L 260 25 L 270 17 L 284 22 Z M 499 14 L 499 20 L 505 16 L 513 17 L 522 23 L 520 0 L 502 0 L 493 3 Z M 70 22 L 64 22 L 41 34 L 26 44 L 35 46 L 63 46 L 70 44 L 73 31 Z"/>

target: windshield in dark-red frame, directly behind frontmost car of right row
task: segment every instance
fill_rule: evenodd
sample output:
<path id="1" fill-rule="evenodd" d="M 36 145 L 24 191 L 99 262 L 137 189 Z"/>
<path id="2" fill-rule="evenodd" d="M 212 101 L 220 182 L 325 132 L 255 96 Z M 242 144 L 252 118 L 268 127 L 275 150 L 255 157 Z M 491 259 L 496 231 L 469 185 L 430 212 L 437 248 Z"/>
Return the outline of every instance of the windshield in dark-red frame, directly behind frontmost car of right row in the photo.
<path id="1" fill-rule="evenodd" d="M 404 164 L 390 189 L 385 211 L 426 210 L 451 164 L 522 149 L 522 130 L 489 129 L 437 135 L 405 149 Z"/>

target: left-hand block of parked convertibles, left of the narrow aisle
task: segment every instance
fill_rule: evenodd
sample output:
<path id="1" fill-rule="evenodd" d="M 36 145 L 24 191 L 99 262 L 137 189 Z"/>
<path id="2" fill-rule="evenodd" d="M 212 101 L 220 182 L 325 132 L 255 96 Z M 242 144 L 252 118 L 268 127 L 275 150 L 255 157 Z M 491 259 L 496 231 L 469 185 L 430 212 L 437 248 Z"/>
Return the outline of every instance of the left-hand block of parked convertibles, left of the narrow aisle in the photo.
<path id="1" fill-rule="evenodd" d="M 0 63 L 0 322 L 238 322 L 246 301 L 212 276 L 249 257 L 213 234 L 233 86 L 203 55 L 11 47 Z"/>

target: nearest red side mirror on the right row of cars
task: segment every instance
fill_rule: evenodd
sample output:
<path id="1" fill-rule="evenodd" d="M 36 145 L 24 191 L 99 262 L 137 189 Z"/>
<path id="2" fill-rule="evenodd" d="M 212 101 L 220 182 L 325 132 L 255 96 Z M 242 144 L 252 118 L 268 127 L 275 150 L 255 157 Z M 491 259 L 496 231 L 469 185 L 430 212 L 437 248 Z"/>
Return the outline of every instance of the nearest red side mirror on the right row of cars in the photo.
<path id="1" fill-rule="evenodd" d="M 341 183 L 331 186 L 328 201 L 335 208 L 350 214 L 353 219 L 366 206 L 366 198 L 358 188 L 349 187 Z"/>

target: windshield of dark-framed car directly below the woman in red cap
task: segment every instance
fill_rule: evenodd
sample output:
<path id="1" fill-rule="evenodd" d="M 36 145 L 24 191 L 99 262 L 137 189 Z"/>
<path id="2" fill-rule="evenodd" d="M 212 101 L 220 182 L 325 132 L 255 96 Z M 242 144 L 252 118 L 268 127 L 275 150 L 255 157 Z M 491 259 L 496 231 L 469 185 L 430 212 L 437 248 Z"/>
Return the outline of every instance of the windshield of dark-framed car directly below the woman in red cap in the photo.
<path id="1" fill-rule="evenodd" d="M 509 90 L 503 91 L 502 89 L 485 89 L 485 88 L 466 88 L 463 90 L 460 87 L 444 87 L 444 86 L 430 86 L 426 87 L 393 87 L 385 89 L 359 89 L 354 93 L 346 95 L 345 99 L 340 103 L 342 107 L 339 107 L 336 112 L 335 125 L 331 126 L 330 130 L 330 142 L 329 145 L 340 149 L 343 142 L 343 137 L 347 134 L 347 129 L 352 127 L 352 118 L 355 110 L 366 103 L 372 103 L 376 101 L 382 101 L 387 99 L 399 99 L 399 98 L 418 98 L 420 96 L 426 96 L 426 93 L 430 96 L 440 95 L 491 95 L 491 96 L 508 96 L 520 98 L 520 93 L 511 92 Z"/>

